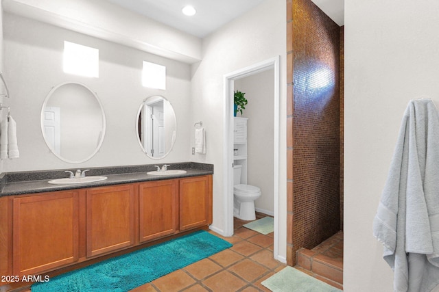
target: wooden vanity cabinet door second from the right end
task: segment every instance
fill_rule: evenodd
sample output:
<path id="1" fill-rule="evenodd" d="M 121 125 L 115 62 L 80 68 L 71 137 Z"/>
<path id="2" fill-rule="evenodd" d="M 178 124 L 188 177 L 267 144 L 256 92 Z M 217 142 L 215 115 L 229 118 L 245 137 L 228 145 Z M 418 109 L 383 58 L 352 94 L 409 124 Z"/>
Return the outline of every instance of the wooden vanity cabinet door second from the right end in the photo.
<path id="1" fill-rule="evenodd" d="M 149 241 L 177 230 L 177 181 L 142 183 L 139 187 L 139 241 Z"/>

